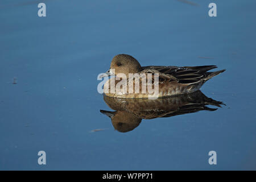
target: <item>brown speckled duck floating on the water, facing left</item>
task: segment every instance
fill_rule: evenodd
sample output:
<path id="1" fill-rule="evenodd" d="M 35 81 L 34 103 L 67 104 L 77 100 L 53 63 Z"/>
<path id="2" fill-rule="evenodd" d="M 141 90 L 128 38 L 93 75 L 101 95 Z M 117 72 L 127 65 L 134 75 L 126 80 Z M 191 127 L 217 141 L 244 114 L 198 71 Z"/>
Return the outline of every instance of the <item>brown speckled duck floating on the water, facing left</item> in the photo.
<path id="1" fill-rule="evenodd" d="M 150 65 L 142 67 L 133 56 L 119 54 L 113 57 L 110 69 L 106 73 L 102 73 L 100 77 L 110 76 L 109 80 L 104 84 L 104 94 L 106 96 L 117 98 L 152 97 L 155 99 L 196 92 L 210 78 L 226 71 L 226 69 L 222 69 L 209 72 L 214 68 L 217 68 L 217 66 L 176 67 Z M 130 75 L 137 75 L 139 79 L 137 90 L 135 89 L 136 77 L 130 77 Z M 151 80 L 152 84 L 149 85 L 145 80 Z M 129 85 L 130 83 L 131 85 Z M 151 90 L 149 86 L 152 86 Z M 146 91 L 144 88 L 146 88 Z"/>

